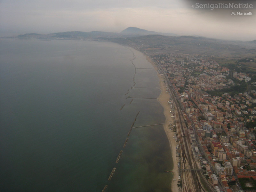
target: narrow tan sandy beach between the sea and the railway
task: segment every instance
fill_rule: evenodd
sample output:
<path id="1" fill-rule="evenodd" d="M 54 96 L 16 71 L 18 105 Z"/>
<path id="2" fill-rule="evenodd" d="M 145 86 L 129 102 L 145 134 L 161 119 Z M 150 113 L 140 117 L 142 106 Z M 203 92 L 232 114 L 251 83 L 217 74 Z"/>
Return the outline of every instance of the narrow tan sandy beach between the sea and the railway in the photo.
<path id="1" fill-rule="evenodd" d="M 157 71 L 157 65 L 154 64 L 150 58 L 148 56 L 147 60 L 153 65 L 153 67 L 155 68 L 155 70 Z M 168 104 L 168 101 L 170 99 L 170 95 L 166 92 L 166 85 L 164 84 L 164 77 L 159 74 L 157 72 L 157 76 L 159 78 L 159 85 L 160 85 L 160 89 L 161 89 L 161 94 L 160 96 L 157 98 L 157 100 L 160 102 L 160 104 L 164 107 L 164 115 L 165 115 L 165 122 L 166 123 L 174 123 L 173 122 L 173 118 L 172 115 L 170 113 L 170 105 Z M 178 191 L 179 187 L 177 186 L 177 182 L 178 182 L 178 167 L 177 167 L 177 157 L 176 157 L 176 141 L 174 139 L 174 132 L 170 131 L 170 129 L 168 128 L 169 124 L 164 124 L 164 131 L 167 135 L 167 138 L 169 140 L 169 144 L 170 144 L 170 148 L 172 151 L 172 159 L 173 159 L 173 169 L 172 169 L 172 174 L 173 174 L 173 178 L 172 178 L 172 192 Z"/>

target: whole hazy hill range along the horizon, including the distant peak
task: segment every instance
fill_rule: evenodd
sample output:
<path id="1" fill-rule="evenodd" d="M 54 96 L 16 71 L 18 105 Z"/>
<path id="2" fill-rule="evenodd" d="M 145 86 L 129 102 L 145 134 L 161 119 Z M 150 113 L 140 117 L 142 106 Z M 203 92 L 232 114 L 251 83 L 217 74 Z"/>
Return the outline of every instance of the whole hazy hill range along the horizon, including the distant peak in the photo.
<path id="1" fill-rule="evenodd" d="M 149 34 L 149 35 L 147 35 Z M 164 33 L 145 29 L 128 27 L 121 33 L 104 31 L 69 31 L 41 35 L 29 33 L 16 38 L 34 39 L 74 39 L 110 41 L 132 46 L 147 53 L 183 53 L 201 54 L 220 59 L 242 59 L 244 55 L 255 58 L 256 40 L 254 41 L 226 41 L 198 36 L 166 36 Z"/>

